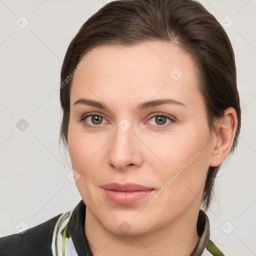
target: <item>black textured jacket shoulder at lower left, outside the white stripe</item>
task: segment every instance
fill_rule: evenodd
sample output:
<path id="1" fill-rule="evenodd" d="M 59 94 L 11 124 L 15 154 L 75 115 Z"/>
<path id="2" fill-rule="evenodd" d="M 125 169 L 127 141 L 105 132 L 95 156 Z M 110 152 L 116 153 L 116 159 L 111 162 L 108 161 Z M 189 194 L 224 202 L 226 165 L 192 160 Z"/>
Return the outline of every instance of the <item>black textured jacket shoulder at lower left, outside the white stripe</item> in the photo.
<path id="1" fill-rule="evenodd" d="M 28 228 L 25 232 L 0 237 L 0 255 L 51 255 L 55 224 L 61 213 L 47 221 Z"/>

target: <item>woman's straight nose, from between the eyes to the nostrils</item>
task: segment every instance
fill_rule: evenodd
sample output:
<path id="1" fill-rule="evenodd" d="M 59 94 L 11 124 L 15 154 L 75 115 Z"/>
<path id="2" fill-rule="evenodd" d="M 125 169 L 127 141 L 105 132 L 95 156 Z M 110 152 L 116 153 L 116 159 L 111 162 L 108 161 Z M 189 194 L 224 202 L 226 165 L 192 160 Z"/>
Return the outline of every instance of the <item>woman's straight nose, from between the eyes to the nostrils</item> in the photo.
<path id="1" fill-rule="evenodd" d="M 120 127 L 116 127 L 109 145 L 109 164 L 118 170 L 135 169 L 142 164 L 141 141 L 132 125 L 127 130 Z"/>

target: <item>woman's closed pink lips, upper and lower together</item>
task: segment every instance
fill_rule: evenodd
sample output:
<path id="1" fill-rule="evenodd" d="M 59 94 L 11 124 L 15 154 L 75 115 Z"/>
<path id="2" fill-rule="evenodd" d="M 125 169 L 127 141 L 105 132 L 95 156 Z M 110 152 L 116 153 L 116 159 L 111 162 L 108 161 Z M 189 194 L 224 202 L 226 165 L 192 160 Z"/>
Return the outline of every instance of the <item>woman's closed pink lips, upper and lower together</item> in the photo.
<path id="1" fill-rule="evenodd" d="M 102 186 L 105 195 L 112 202 L 117 204 L 131 204 L 147 196 L 154 190 L 152 187 L 146 187 L 134 183 L 108 183 Z"/>

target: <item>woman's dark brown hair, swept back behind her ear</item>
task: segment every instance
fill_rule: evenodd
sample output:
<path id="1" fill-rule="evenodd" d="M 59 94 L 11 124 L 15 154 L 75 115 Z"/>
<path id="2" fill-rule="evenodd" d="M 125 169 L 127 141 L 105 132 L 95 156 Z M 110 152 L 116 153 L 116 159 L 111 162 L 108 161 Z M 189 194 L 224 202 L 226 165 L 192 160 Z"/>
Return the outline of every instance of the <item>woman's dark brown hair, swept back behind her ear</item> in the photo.
<path id="1" fill-rule="evenodd" d="M 193 0 L 112 1 L 81 26 L 68 46 L 61 68 L 61 141 L 67 145 L 72 84 L 72 79 L 67 77 L 80 58 L 97 45 L 128 46 L 148 40 L 174 42 L 192 54 L 199 70 L 199 89 L 210 130 L 214 130 L 213 120 L 221 117 L 225 108 L 236 110 L 238 125 L 229 154 L 232 153 L 237 145 L 241 119 L 233 49 L 215 17 Z M 210 205 L 219 167 L 209 167 L 202 198 L 205 209 Z"/>

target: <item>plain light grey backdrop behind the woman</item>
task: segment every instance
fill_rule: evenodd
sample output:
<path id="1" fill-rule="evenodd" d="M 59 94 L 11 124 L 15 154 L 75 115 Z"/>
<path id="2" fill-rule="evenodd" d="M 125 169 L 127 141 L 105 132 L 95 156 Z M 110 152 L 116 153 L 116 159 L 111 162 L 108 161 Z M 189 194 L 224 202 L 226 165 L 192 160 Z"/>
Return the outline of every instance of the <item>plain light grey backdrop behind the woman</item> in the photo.
<path id="1" fill-rule="evenodd" d="M 0 0 L 0 236 L 17 233 L 15 226 L 25 225 L 20 221 L 29 227 L 42 223 L 81 199 L 66 177 L 68 152 L 58 146 L 59 94 L 52 100 L 46 94 L 58 86 L 72 37 L 106 2 Z M 200 2 L 223 26 L 234 21 L 226 32 L 242 108 L 238 148 L 219 172 L 207 212 L 210 237 L 226 255 L 256 255 L 256 1 Z M 15 23 L 21 15 L 29 21 L 24 29 Z M 21 118 L 29 124 L 24 131 L 16 127 Z"/>

